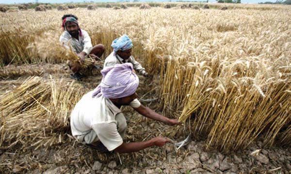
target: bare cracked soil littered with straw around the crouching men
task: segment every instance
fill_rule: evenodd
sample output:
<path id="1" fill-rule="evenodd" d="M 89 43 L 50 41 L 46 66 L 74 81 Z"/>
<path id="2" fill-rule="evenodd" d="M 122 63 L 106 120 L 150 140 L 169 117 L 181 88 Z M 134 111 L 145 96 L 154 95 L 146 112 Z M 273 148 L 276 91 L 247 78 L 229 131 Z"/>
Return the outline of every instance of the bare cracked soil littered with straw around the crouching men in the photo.
<path id="1" fill-rule="evenodd" d="M 19 85 L 29 76 L 43 78 L 67 78 L 69 70 L 65 64 L 34 64 L 6 66 L 0 69 L 0 95 Z M 100 73 L 84 78 L 80 83 L 87 91 L 97 87 Z M 140 77 L 138 94 L 142 99 L 156 97 L 156 80 Z M 144 105 L 161 113 L 157 101 L 148 100 Z M 138 115 L 133 109 L 122 108 L 128 118 L 126 140 L 144 141 L 155 136 L 165 136 L 176 141 L 184 139 L 185 132 L 173 135 L 175 128 L 154 122 Z M 98 154 L 76 142 L 65 130 L 65 143 L 49 148 L 8 148 L 3 142 L 0 147 L 0 173 L 32 174 L 238 174 L 268 173 L 291 174 L 291 147 L 262 147 L 259 141 L 248 149 L 222 154 L 216 150 L 206 151 L 201 137 L 192 137 L 190 145 L 177 152 L 173 144 L 151 147 L 133 154 Z M 203 137 L 202 137 L 203 139 Z M 257 155 L 251 155 L 257 151 Z"/>

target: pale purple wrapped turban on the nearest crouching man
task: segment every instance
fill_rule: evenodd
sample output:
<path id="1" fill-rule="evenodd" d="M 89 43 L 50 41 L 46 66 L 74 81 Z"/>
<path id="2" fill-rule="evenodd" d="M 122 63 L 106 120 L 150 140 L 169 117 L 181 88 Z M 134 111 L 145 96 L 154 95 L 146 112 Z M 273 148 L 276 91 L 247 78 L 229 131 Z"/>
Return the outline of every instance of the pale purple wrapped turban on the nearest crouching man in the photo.
<path id="1" fill-rule="evenodd" d="M 131 63 L 116 64 L 101 71 L 103 78 L 101 83 L 93 90 L 92 97 L 118 99 L 135 93 L 139 79 L 132 72 Z"/>

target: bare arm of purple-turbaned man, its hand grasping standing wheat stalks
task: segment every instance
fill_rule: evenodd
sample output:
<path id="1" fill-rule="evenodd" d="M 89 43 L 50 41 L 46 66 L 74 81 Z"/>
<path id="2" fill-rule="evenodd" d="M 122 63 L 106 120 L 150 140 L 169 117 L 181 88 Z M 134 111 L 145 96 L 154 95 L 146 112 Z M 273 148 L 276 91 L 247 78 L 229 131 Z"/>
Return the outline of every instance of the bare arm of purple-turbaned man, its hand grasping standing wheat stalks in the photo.
<path id="1" fill-rule="evenodd" d="M 155 111 L 149 109 L 148 107 L 146 107 L 142 104 L 140 105 L 140 107 L 133 108 L 133 109 L 135 109 L 139 114 L 141 114 L 143 116 L 146 116 L 146 117 L 151 118 L 153 120 L 161 121 L 161 122 L 168 124 L 168 125 L 179 124 L 177 119 L 170 119 L 170 118 L 167 118 L 165 116 L 162 116 L 162 115 L 156 113 Z"/>

